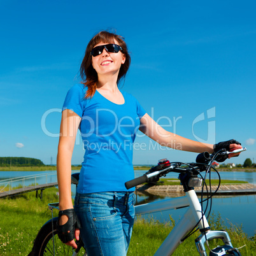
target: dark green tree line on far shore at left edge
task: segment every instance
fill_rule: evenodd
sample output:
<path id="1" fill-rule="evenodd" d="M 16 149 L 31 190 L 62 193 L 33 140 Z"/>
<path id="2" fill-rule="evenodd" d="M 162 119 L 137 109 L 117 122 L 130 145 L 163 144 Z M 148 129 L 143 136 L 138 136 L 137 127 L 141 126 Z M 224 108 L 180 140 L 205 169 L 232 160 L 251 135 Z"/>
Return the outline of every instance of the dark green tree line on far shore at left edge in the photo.
<path id="1" fill-rule="evenodd" d="M 29 157 L 0 157 L 0 166 L 44 166 L 39 159 Z"/>

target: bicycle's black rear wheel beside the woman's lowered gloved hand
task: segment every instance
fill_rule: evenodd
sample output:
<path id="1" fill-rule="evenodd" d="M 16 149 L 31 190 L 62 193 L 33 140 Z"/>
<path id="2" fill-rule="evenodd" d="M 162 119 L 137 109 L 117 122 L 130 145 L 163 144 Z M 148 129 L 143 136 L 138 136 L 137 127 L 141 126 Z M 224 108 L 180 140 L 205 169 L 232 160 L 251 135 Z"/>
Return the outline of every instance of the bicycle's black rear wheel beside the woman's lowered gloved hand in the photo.
<path id="1" fill-rule="evenodd" d="M 56 230 L 57 218 L 53 219 L 53 228 L 52 220 L 46 222 L 43 227 L 41 227 L 36 239 L 34 241 L 34 246 L 32 252 L 28 256 L 47 256 L 47 255 L 72 255 L 75 250 L 69 246 L 65 245 L 60 241 L 57 236 Z M 53 239 L 54 239 L 54 249 L 53 249 Z M 78 252 L 78 255 L 87 255 L 85 249 L 82 248 Z"/>

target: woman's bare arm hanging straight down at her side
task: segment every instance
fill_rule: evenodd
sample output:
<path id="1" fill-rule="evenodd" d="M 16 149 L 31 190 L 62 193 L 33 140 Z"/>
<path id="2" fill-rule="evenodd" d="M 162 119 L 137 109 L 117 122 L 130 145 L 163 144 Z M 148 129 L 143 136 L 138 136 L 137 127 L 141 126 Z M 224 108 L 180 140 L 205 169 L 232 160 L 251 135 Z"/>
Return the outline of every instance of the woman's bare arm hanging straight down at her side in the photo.
<path id="1" fill-rule="evenodd" d="M 71 159 L 80 122 L 81 118 L 76 115 L 75 112 L 71 110 L 62 111 L 57 155 L 59 210 L 62 211 L 73 208 L 71 197 Z M 67 221 L 68 217 L 66 215 L 62 215 L 59 220 L 59 225 L 64 225 Z M 76 239 L 79 239 L 78 231 L 76 231 Z M 76 248 L 74 240 L 69 243 L 69 245 Z"/>

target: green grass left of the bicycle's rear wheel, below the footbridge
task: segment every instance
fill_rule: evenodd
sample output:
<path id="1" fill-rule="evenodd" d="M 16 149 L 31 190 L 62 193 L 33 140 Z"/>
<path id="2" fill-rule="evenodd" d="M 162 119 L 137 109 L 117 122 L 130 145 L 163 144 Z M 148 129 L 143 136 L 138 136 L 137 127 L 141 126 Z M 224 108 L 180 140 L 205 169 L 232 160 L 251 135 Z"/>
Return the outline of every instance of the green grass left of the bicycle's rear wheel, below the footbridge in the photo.
<path id="1" fill-rule="evenodd" d="M 57 188 L 0 199 L 0 255 L 27 255 L 41 226 L 51 218 L 48 203 L 57 202 Z M 56 213 L 55 213 L 56 215 Z"/>

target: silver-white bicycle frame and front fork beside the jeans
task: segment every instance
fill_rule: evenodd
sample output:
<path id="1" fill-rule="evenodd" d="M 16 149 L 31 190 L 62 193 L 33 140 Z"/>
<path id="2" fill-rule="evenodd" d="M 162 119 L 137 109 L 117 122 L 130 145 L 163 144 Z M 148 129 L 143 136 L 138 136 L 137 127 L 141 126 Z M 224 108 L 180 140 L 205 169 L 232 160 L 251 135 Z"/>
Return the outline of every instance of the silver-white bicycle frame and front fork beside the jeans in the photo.
<path id="1" fill-rule="evenodd" d="M 196 192 L 194 190 L 189 190 L 185 194 L 186 196 L 183 197 L 176 197 L 173 199 L 166 199 L 159 202 L 135 206 L 136 215 L 188 206 L 188 210 L 174 226 L 173 230 L 169 233 L 167 238 L 155 253 L 155 256 L 171 255 L 176 250 L 178 245 L 180 245 L 181 239 L 184 238 L 187 233 L 196 226 L 197 223 L 199 229 L 202 231 L 201 235 L 196 239 L 197 250 L 201 256 L 207 255 L 204 247 L 206 240 L 210 241 L 211 239 L 220 238 L 224 241 L 225 245 L 232 246 L 231 239 L 229 238 L 229 234 L 227 234 L 227 232 L 210 230 L 204 232 L 204 230 L 209 229 L 209 224 L 201 211 L 201 204 L 196 196 Z"/>

